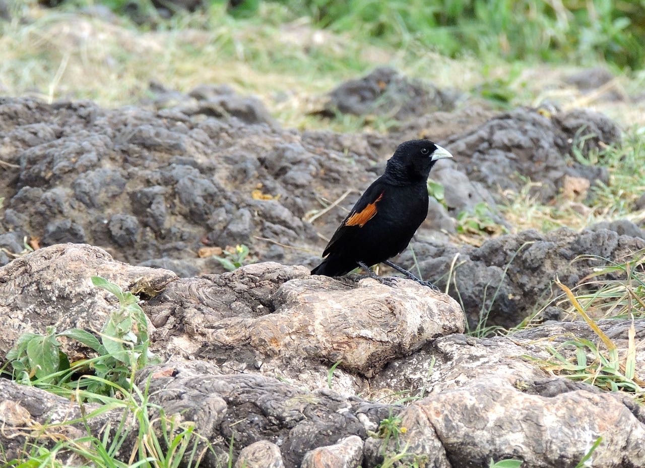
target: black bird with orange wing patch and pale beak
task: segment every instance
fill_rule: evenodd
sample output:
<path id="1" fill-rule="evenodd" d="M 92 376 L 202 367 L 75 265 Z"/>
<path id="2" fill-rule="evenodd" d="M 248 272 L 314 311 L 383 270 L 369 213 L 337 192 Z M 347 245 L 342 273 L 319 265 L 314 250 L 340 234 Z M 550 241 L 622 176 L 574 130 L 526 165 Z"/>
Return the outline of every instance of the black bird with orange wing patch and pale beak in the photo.
<path id="1" fill-rule="evenodd" d="M 312 274 L 342 276 L 361 267 L 375 280 L 392 285 L 393 278 L 381 278 L 370 269 L 385 263 L 410 280 L 432 287 L 389 258 L 408 247 L 428 216 L 428 175 L 444 158 L 452 158 L 452 154 L 430 140 L 401 143 L 388 159 L 384 174 L 365 190 L 333 234 L 324 249 L 323 263 Z"/>

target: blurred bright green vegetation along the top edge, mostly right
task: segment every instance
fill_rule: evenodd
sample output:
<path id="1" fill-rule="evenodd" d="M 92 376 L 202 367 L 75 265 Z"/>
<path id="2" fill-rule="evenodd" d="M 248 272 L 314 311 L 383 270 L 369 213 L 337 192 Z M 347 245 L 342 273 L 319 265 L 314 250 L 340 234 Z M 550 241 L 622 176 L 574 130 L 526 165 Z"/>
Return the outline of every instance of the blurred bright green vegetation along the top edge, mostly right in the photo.
<path id="1" fill-rule="evenodd" d="M 75 0 L 72 3 L 78 5 Z M 107 0 L 114 12 L 204 8 L 221 14 L 222 1 Z M 375 43 L 433 48 L 504 59 L 598 60 L 642 68 L 645 60 L 645 0 L 264 0 L 284 6 L 281 21 L 309 17 L 336 33 L 352 31 Z M 228 14 L 253 17 L 261 0 L 233 0 Z"/>

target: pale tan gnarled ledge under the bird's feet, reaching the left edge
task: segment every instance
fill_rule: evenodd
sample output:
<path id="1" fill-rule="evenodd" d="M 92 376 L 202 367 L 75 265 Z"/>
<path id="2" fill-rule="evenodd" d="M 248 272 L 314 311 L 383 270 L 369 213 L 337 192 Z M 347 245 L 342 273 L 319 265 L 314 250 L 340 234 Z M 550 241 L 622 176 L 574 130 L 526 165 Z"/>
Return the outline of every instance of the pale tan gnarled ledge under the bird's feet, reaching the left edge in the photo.
<path id="1" fill-rule="evenodd" d="M 116 278 L 119 271 L 123 274 Z M 38 301 L 52 300 L 39 314 L 48 317 L 46 323 L 58 323 L 59 331 L 100 330 L 110 302 L 90 285 L 94 275 L 124 289 L 145 285 L 143 292 L 150 297 L 143 307 L 155 327 L 155 352 L 208 356 L 238 371 L 273 374 L 285 369 L 284 376 L 304 385 L 326 382 L 337 361 L 339 372 L 369 378 L 396 356 L 464 327 L 461 308 L 452 298 L 414 281 L 401 280 L 393 288 L 371 279 L 341 283 L 310 276 L 304 267 L 270 262 L 178 279 L 168 270 L 114 261 L 95 247 L 66 244 L 37 250 L 0 269 L 0 296 L 8 304 L 0 305 L 0 327 L 6 331 L 0 352 L 17 340 L 20 320 L 33 313 L 27 306 Z M 286 370 L 287 362 L 293 374 Z"/>

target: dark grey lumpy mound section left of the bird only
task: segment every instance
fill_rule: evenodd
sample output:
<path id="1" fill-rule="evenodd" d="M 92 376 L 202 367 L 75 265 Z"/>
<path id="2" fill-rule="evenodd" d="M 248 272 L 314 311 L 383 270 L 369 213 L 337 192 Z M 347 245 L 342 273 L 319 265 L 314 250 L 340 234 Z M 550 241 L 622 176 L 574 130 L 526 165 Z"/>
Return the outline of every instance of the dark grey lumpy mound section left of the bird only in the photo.
<path id="1" fill-rule="evenodd" d="M 87 242 L 184 276 L 221 271 L 196 258 L 204 246 L 246 243 L 258 259 L 310 261 L 319 247 L 279 244 L 321 245 L 304 215 L 324 207 L 319 197 L 368 185 L 375 174 L 365 168 L 378 158 L 364 139 L 345 139 L 358 145 L 346 155 L 270 125 L 91 103 L 3 99 L 0 132 L 10 164 L 0 181 L 3 247 L 21 251 L 24 236 Z"/>

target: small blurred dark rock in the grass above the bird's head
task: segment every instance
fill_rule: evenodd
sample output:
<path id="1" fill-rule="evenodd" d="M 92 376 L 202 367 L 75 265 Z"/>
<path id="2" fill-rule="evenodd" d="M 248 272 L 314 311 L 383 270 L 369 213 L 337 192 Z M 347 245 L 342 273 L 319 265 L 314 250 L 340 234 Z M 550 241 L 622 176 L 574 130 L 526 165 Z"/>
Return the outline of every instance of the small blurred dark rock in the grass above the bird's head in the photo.
<path id="1" fill-rule="evenodd" d="M 460 97 L 455 90 L 439 90 L 430 83 L 408 79 L 392 68 L 380 67 L 335 88 L 328 94 L 324 109 L 317 113 L 327 117 L 336 112 L 387 115 L 403 121 L 435 110 L 450 110 Z"/>

